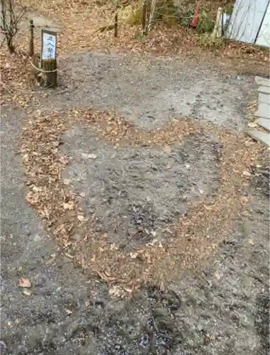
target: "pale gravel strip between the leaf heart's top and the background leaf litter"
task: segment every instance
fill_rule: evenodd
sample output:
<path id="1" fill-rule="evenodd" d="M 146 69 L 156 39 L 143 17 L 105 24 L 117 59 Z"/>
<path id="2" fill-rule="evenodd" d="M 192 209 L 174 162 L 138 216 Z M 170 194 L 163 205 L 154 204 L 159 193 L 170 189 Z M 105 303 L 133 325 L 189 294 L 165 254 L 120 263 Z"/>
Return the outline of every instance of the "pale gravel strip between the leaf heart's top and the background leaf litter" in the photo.
<path id="1" fill-rule="evenodd" d="M 182 115 L 241 130 L 254 87 L 254 77 L 206 63 L 104 53 L 60 58 L 60 74 L 62 87 L 40 98 L 44 109 L 113 109 L 150 129 Z"/>

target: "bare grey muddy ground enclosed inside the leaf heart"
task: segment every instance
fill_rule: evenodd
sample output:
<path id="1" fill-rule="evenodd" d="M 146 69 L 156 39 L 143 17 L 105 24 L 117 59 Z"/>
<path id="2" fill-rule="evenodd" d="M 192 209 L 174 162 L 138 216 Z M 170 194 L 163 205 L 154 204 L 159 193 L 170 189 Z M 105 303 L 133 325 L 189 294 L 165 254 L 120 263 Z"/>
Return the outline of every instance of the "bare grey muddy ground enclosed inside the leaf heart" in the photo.
<path id="1" fill-rule="evenodd" d="M 149 242 L 192 202 L 218 188 L 218 146 L 194 135 L 168 148 L 121 146 L 96 140 L 94 129 L 64 134 L 71 181 L 95 222 L 112 243 Z"/>

